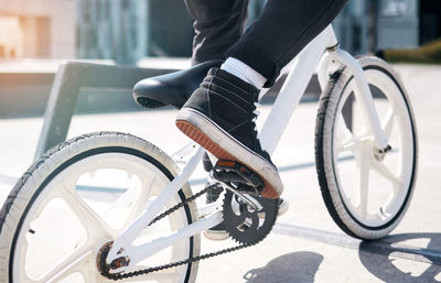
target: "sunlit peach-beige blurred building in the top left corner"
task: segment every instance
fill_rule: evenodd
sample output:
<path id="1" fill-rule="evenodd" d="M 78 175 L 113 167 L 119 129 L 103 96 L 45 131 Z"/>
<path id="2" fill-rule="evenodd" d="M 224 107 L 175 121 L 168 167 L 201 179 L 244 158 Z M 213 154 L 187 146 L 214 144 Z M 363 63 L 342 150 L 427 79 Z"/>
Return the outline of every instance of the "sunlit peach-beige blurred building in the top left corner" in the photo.
<path id="1" fill-rule="evenodd" d="M 0 57 L 76 56 L 75 0 L 0 0 Z"/>

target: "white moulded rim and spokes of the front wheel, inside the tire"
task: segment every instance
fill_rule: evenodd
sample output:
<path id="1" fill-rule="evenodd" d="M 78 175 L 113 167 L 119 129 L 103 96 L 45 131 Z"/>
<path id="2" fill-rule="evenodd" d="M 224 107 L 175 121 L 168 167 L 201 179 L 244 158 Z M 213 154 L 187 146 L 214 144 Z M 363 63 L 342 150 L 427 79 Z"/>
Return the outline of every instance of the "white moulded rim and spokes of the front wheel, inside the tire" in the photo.
<path id="1" fill-rule="evenodd" d="M 374 228 L 387 224 L 402 209 L 413 173 L 415 144 L 409 110 L 398 86 L 384 72 L 366 69 L 365 74 L 367 80 L 387 97 L 375 100 L 381 127 L 388 135 L 392 151 L 386 154 L 384 161 L 377 161 L 373 154 L 373 134 L 369 130 L 364 128 L 358 129 L 358 132 L 351 132 L 346 128 L 341 113 L 354 90 L 355 81 L 352 79 L 345 87 L 336 110 L 333 163 L 338 193 L 345 207 L 355 220 Z M 359 111 L 353 111 L 358 122 L 363 122 L 357 113 Z M 352 161 L 351 155 L 354 156 Z M 354 173 L 357 174 L 357 184 L 347 182 L 354 179 L 353 176 L 346 178 L 347 174 Z"/>

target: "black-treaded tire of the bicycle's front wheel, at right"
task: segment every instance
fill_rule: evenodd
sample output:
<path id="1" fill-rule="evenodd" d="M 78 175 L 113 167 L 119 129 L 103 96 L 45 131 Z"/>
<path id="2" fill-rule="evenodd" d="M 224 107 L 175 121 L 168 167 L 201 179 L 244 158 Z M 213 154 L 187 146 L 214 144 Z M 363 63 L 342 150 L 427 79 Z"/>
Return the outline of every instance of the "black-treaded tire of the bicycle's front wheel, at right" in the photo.
<path id="1" fill-rule="evenodd" d="M 392 117 L 392 119 L 401 119 L 402 117 L 404 122 L 401 124 L 405 124 L 408 130 L 406 135 L 408 138 L 406 139 L 406 144 L 407 149 L 409 150 L 407 150 L 406 153 L 406 161 L 409 161 L 409 164 L 406 166 L 408 174 L 404 174 L 406 175 L 406 177 L 404 177 L 406 181 L 402 183 L 408 185 L 404 185 L 405 192 L 402 193 L 402 196 L 400 193 L 400 197 L 397 200 L 398 203 L 394 204 L 394 211 L 391 215 L 385 214 L 385 216 L 383 216 L 381 214 L 384 214 L 384 211 L 381 210 L 381 206 L 379 206 L 380 211 L 376 213 L 379 215 L 379 220 L 374 219 L 375 221 L 370 221 L 367 219 L 367 217 L 361 217 L 357 215 L 357 210 L 354 208 L 355 205 L 351 203 L 351 196 L 347 196 L 345 191 L 346 188 L 342 185 L 344 183 L 344 181 L 342 181 L 343 174 L 341 173 L 340 165 L 337 164 L 338 162 L 342 164 L 343 161 L 337 161 L 337 144 L 334 144 L 334 141 L 337 139 L 335 138 L 337 135 L 335 127 L 337 123 L 337 113 L 343 107 L 346 107 L 344 105 L 349 97 L 353 96 L 353 92 L 352 95 L 347 95 L 351 91 L 348 88 L 351 87 L 351 81 L 353 80 L 353 76 L 347 69 L 341 69 L 331 75 L 327 86 L 320 98 L 315 124 L 315 163 L 322 197 L 326 205 L 327 211 L 335 224 L 352 237 L 372 240 L 387 236 L 399 224 L 409 206 L 417 174 L 417 129 L 413 121 L 413 112 L 406 90 L 391 67 L 386 62 L 374 56 L 361 57 L 358 58 L 358 62 L 366 74 L 372 74 L 370 77 L 377 76 L 380 79 L 384 78 L 385 81 L 388 81 L 387 84 L 394 85 L 394 88 L 390 89 L 397 90 L 394 94 L 386 94 L 383 98 L 387 98 L 388 100 L 386 101 L 389 101 L 390 99 L 396 99 L 395 101 L 399 101 L 399 109 L 401 109 L 400 113 L 402 115 L 399 118 Z M 376 87 L 375 79 L 369 80 L 368 78 L 368 83 L 372 89 Z M 383 87 L 383 89 L 385 89 L 385 87 Z M 342 99 L 344 95 L 345 99 Z M 392 116 L 395 116 L 395 110 Z M 347 127 L 348 122 L 346 122 L 346 120 L 345 123 Z M 353 134 L 352 130 L 351 134 Z M 372 173 L 369 174 L 372 175 Z M 368 189 L 372 191 L 372 187 L 368 187 Z M 368 194 L 370 194 L 370 192 Z M 359 193 L 358 199 L 362 198 L 361 195 L 362 193 Z M 373 197 L 369 195 L 369 199 L 372 198 Z M 384 220 L 381 218 L 384 218 Z"/>

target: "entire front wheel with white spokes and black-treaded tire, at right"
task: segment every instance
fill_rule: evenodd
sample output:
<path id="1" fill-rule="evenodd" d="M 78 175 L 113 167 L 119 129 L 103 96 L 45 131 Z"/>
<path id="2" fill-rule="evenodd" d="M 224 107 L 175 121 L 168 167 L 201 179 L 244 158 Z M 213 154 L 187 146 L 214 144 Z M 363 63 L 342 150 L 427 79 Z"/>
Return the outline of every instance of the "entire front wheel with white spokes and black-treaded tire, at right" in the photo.
<path id="1" fill-rule="evenodd" d="M 417 130 L 406 91 L 390 66 L 372 56 L 358 62 L 391 149 L 386 154 L 377 153 L 354 95 L 354 78 L 347 70 L 337 72 L 321 97 L 316 167 L 322 196 L 334 221 L 353 237 L 378 239 L 398 225 L 412 196 Z"/>

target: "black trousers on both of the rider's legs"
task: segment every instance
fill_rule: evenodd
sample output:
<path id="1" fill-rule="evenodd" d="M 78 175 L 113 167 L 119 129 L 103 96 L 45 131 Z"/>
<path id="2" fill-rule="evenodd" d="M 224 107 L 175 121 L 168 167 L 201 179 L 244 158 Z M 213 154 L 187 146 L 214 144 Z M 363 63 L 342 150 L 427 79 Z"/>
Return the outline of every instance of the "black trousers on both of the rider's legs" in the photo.
<path id="1" fill-rule="evenodd" d="M 348 0 L 269 0 L 243 32 L 248 0 L 185 0 L 195 19 L 192 63 L 238 58 L 271 86 L 280 69 L 338 14 Z M 206 162 L 206 170 L 211 164 Z"/>

